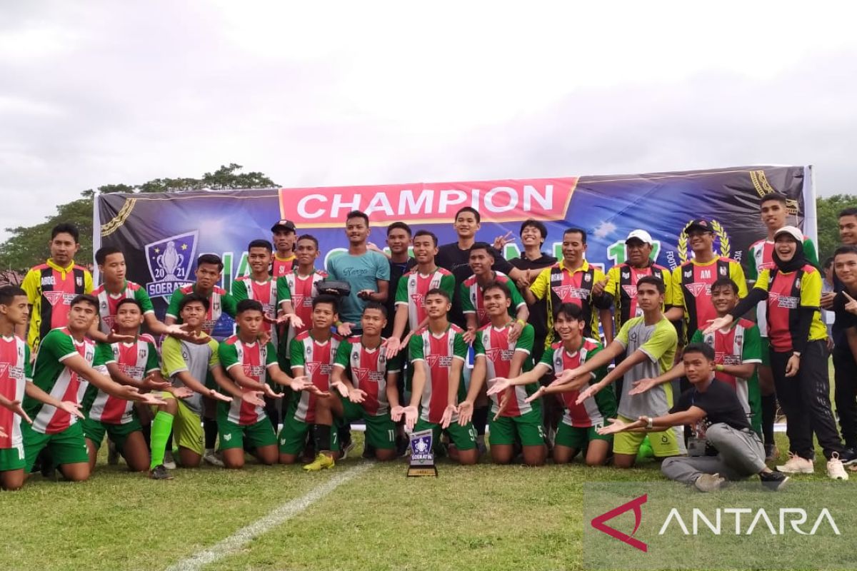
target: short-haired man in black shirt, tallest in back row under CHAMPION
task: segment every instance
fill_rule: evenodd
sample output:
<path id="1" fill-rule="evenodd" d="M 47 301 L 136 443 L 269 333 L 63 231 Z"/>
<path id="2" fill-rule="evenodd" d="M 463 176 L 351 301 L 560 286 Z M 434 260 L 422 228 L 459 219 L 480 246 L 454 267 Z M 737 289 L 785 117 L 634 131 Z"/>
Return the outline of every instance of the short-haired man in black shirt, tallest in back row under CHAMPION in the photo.
<path id="1" fill-rule="evenodd" d="M 476 232 L 482 226 L 481 220 L 482 217 L 479 216 L 479 212 L 470 206 L 464 206 L 456 212 L 452 227 L 455 228 L 458 241 L 439 247 L 437 256 L 434 258 L 435 264 L 452 271 L 452 275 L 455 276 L 455 295 L 452 298 L 452 311 L 449 312 L 449 320 L 462 329 L 467 328 L 467 321 L 464 319 L 464 312 L 461 310 L 459 292 L 461 283 L 473 275 L 473 271 L 470 270 L 470 248 L 476 243 Z M 523 273 L 509 264 L 496 250 L 491 254 L 494 256 L 494 265 L 491 266 L 491 269 L 506 274 L 520 287 L 524 283 Z"/>

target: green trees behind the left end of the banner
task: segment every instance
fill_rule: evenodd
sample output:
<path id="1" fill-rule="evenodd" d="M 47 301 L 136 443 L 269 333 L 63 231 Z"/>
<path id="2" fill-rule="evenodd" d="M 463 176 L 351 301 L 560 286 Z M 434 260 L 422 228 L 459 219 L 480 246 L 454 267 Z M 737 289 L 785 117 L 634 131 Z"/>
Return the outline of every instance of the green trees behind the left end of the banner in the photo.
<path id="1" fill-rule="evenodd" d="M 7 228 L 9 239 L 0 244 L 0 271 L 27 271 L 47 258 L 51 229 L 70 222 L 81 231 L 81 251 L 75 256 L 81 263 L 93 259 L 93 203 L 97 193 L 182 193 L 192 190 L 230 188 L 271 188 L 276 183 L 261 172 L 238 172 L 243 167 L 231 163 L 201 178 L 157 178 L 138 185 L 107 184 L 81 193 L 81 198 L 57 206 L 57 213 L 33 226 Z"/>

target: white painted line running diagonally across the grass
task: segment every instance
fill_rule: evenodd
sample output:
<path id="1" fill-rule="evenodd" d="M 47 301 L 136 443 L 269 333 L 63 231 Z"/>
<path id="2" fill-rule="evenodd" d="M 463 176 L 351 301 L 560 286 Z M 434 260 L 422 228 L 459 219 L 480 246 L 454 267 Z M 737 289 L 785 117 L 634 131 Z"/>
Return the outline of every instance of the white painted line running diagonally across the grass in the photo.
<path id="1" fill-rule="evenodd" d="M 369 470 L 375 465 L 374 462 L 366 462 L 358 466 L 352 467 L 345 472 L 337 473 L 333 478 L 327 480 L 322 485 L 309 491 L 302 497 L 296 497 L 278 508 L 274 509 L 270 514 L 255 520 L 249 526 L 242 527 L 237 532 L 233 533 L 228 538 L 219 541 L 208 549 L 196 552 L 193 556 L 177 562 L 175 565 L 167 568 L 168 571 L 191 571 L 201 569 L 209 563 L 213 563 L 230 555 L 232 552 L 241 549 L 245 544 L 248 544 L 254 538 L 259 537 L 263 533 L 271 531 L 274 527 L 281 525 L 286 520 L 291 520 L 297 514 L 301 514 L 310 505 L 321 500 L 330 492 L 336 490 L 345 482 L 357 478 L 357 476 Z"/>

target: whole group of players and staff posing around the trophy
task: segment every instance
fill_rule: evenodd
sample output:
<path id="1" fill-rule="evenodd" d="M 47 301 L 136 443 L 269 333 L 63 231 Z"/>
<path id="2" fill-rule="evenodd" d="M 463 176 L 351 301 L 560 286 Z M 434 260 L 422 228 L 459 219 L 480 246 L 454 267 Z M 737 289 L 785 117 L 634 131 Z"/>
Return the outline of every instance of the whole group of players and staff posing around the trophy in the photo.
<path id="1" fill-rule="evenodd" d="M 476 241 L 480 216 L 468 207 L 453 221 L 458 241 L 439 247 L 397 222 L 388 253 L 352 211 L 348 251 L 326 271 L 315 237 L 279 220 L 272 241 L 249 242 L 249 275 L 231 292 L 217 285 L 221 259 L 201 255 L 163 322 L 126 279 L 123 252 L 99 249 L 94 287 L 74 261 L 77 230 L 59 224 L 51 258 L 21 288 L 0 288 L 0 485 L 18 489 L 39 470 L 87 479 L 105 436 L 109 461 L 121 455 L 153 479 L 171 479 L 176 465 L 241 468 L 248 455 L 321 470 L 351 450 L 355 422 L 364 457 L 380 461 L 423 430 L 462 464 L 580 454 L 590 466 L 632 467 L 650 447 L 664 475 L 701 491 L 752 476 L 778 489 L 790 473 L 812 473 L 814 434 L 830 477 L 848 479 L 857 209 L 842 211 L 843 245 L 822 271 L 812 241 L 786 225 L 786 198 L 759 206 L 768 235 L 746 272 L 715 253 L 702 219 L 685 229 L 692 258 L 673 271 L 652 262 L 649 233 L 634 229 L 626 263 L 607 274 L 586 261 L 584 229 L 565 230 L 562 259 L 543 253 L 537 220 L 522 223 L 522 253 L 506 260 L 511 234 Z M 347 291 L 327 293 L 331 281 Z M 823 308 L 836 312 L 832 334 Z M 223 313 L 236 332 L 218 342 Z M 789 454 L 772 470 L 777 400 Z"/>

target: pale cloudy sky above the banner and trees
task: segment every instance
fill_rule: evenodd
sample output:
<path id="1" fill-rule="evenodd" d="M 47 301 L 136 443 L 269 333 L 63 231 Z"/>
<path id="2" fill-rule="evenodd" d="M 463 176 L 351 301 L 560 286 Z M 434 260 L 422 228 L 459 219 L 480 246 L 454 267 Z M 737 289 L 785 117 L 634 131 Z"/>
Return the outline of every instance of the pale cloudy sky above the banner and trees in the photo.
<path id="1" fill-rule="evenodd" d="M 0 240 L 229 163 L 283 187 L 813 164 L 857 193 L 857 9 L 580 4 L 0 3 Z"/>

